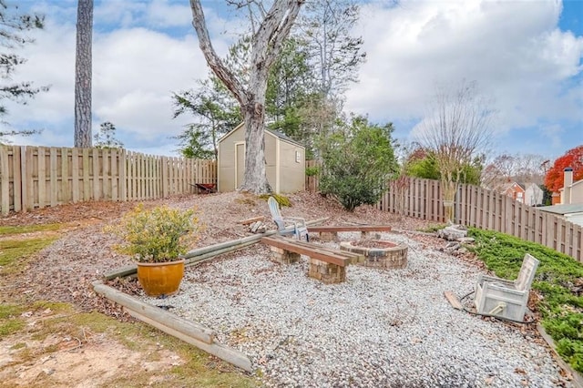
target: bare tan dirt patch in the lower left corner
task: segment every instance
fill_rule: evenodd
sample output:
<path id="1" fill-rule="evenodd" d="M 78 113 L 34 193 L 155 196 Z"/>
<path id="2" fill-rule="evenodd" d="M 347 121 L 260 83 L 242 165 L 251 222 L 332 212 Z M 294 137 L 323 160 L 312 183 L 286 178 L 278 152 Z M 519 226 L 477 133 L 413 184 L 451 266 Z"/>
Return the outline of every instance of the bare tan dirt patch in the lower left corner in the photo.
<path id="1" fill-rule="evenodd" d="M 131 350 L 116 333 L 94 332 L 50 309 L 26 311 L 26 330 L 0 341 L 0 386 L 97 387 L 133 375 L 155 374 L 184 361 L 148 341 Z M 156 372 L 156 373 L 154 373 Z"/>

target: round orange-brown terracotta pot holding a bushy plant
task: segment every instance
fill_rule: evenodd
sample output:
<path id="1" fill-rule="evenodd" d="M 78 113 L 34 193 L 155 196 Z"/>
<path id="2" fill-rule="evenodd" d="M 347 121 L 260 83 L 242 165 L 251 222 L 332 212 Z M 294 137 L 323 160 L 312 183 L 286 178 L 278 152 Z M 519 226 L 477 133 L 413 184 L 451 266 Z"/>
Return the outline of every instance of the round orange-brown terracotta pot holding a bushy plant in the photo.
<path id="1" fill-rule="evenodd" d="M 148 296 L 177 293 L 184 276 L 184 260 L 138 262 L 138 281 Z"/>

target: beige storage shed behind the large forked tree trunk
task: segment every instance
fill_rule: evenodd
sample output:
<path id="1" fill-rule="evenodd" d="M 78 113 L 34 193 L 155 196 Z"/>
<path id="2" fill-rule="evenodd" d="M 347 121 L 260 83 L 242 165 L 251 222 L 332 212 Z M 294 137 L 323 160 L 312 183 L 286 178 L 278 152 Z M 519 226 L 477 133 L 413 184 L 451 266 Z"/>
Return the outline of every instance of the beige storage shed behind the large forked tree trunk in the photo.
<path id="1" fill-rule="evenodd" d="M 280 132 L 265 129 L 265 170 L 271 189 L 278 194 L 305 188 L 305 148 Z M 217 182 L 219 192 L 234 191 L 243 183 L 245 126 L 240 124 L 219 140 Z"/>

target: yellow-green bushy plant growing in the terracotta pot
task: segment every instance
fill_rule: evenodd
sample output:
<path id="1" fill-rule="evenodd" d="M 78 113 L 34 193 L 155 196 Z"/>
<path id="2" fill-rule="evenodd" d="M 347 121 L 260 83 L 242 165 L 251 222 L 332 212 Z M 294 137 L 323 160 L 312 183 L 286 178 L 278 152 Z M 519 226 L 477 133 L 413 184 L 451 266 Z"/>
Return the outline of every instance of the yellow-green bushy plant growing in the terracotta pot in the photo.
<path id="1" fill-rule="evenodd" d="M 129 211 L 117 225 L 106 228 L 125 242 L 116 246 L 121 253 L 132 255 L 139 262 L 178 260 L 194 243 L 199 220 L 194 210 L 170 209 L 159 206 L 145 209 L 142 204 Z"/>

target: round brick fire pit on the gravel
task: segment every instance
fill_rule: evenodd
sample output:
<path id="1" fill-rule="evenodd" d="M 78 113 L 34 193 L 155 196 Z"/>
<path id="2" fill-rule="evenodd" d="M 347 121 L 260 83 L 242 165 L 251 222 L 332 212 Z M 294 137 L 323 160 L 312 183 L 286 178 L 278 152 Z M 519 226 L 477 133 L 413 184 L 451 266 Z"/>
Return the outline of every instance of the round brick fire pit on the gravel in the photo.
<path id="1" fill-rule="evenodd" d="M 407 246 L 387 240 L 342 241 L 341 250 L 360 253 L 364 267 L 383 268 L 386 270 L 402 269 L 407 266 Z"/>

